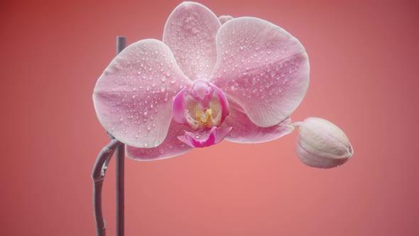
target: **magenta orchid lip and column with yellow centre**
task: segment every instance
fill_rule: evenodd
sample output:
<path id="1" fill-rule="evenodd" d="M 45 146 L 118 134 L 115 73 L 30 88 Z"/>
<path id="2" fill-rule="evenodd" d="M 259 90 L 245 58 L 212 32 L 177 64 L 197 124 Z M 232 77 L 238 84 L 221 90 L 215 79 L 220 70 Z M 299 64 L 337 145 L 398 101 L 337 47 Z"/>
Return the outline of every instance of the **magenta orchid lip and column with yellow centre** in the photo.
<path id="1" fill-rule="evenodd" d="M 193 147 L 211 146 L 222 141 L 231 127 L 222 126 L 229 114 L 224 93 L 211 82 L 197 80 L 185 87 L 173 101 L 173 119 L 187 124 L 192 132 L 178 139 Z"/>

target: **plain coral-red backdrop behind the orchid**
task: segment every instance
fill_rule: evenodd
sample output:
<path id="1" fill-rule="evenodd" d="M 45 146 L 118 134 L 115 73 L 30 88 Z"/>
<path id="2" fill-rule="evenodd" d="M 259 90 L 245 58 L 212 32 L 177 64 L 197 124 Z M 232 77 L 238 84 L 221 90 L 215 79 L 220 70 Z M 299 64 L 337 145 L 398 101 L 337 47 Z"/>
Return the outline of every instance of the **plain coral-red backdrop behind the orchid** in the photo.
<path id="1" fill-rule="evenodd" d="M 92 91 L 115 53 L 158 38 L 180 1 L 2 1 L 0 235 L 94 235 L 90 172 L 109 139 Z M 310 57 L 294 121 L 329 119 L 355 154 L 309 168 L 296 132 L 126 160 L 126 235 L 418 235 L 415 1 L 202 1 L 282 26 Z M 114 235 L 114 160 L 104 184 Z"/>

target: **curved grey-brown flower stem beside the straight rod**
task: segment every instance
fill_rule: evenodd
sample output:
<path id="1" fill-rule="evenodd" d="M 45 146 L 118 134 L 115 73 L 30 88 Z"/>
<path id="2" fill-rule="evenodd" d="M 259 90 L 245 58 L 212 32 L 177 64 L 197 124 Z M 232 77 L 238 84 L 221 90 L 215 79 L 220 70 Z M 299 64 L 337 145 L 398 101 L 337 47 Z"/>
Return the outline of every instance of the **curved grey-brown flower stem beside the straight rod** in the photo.
<path id="1" fill-rule="evenodd" d="M 112 154 L 114 154 L 115 149 L 119 146 L 123 146 L 123 144 L 116 139 L 112 139 L 109 142 L 109 144 L 107 144 L 107 146 L 104 146 L 102 151 L 100 151 L 93 165 L 93 209 L 97 236 L 106 235 L 106 224 L 102 215 L 102 186 L 105 172 L 107 171 L 108 163 L 111 160 Z"/>

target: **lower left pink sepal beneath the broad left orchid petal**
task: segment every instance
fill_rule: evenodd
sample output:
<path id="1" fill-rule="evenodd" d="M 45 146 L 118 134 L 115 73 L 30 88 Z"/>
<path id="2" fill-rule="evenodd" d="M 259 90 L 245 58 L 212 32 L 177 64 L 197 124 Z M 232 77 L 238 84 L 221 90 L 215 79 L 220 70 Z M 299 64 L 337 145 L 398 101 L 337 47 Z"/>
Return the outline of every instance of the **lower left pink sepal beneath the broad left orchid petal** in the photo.
<path id="1" fill-rule="evenodd" d="M 186 126 L 172 121 L 170 123 L 168 135 L 162 144 L 148 149 L 126 146 L 126 156 L 137 161 L 154 161 L 185 154 L 185 152 L 190 151 L 192 147 L 179 141 L 177 137 L 183 134 L 185 129 L 187 129 Z"/>

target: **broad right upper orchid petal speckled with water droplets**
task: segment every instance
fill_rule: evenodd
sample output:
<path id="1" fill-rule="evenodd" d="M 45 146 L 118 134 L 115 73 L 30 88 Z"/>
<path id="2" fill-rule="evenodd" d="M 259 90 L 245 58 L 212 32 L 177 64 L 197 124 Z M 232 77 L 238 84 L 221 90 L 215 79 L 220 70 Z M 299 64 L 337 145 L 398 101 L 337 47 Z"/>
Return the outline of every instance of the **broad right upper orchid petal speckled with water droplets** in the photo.
<path id="1" fill-rule="evenodd" d="M 283 28 L 251 17 L 219 28 L 212 82 L 260 127 L 282 122 L 298 107 L 309 70 L 303 45 Z"/>

